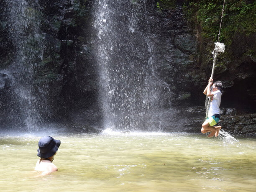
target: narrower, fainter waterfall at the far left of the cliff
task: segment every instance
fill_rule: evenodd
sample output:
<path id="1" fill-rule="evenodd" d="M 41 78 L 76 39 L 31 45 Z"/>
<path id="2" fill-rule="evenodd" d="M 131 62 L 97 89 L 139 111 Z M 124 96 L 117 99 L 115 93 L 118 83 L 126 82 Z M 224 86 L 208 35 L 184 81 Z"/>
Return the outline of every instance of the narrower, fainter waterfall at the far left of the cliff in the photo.
<path id="1" fill-rule="evenodd" d="M 11 64 L 4 71 L 12 79 L 8 90 L 9 100 L 6 127 L 24 131 L 38 131 L 43 123 L 41 113 L 47 112 L 47 84 L 38 84 L 37 66 L 44 53 L 44 38 L 40 34 L 41 13 L 37 1 L 5 0 L 5 21 L 8 41 L 11 44 Z"/>

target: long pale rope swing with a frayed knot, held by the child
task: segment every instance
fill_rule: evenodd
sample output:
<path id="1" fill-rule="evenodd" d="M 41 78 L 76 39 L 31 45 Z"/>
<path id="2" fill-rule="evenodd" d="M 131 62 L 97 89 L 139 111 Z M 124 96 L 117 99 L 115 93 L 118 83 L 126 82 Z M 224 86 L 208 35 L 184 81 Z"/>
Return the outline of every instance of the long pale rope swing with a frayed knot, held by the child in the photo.
<path id="1" fill-rule="evenodd" d="M 222 8 L 222 13 L 221 13 L 221 18 L 220 18 L 220 29 L 221 29 L 221 24 L 222 24 L 222 19 L 223 19 L 223 13 L 224 13 L 224 6 L 225 6 L 225 0 L 223 2 L 223 8 Z M 220 29 L 219 29 L 219 33 L 218 33 L 218 42 L 214 43 L 215 44 L 215 48 L 212 52 L 213 55 L 213 65 L 212 65 L 212 74 L 211 74 L 211 78 L 213 79 L 213 74 L 214 74 L 214 68 L 215 68 L 215 64 L 216 64 L 216 60 L 217 60 L 217 56 L 220 53 L 224 53 L 225 51 L 225 45 L 219 43 L 219 39 L 220 39 Z M 208 97 L 206 95 L 205 97 L 205 119 L 207 119 L 208 117 L 208 112 L 209 112 L 209 107 L 210 107 L 210 101 L 212 100 L 212 97 L 210 97 L 210 99 L 208 100 Z"/>

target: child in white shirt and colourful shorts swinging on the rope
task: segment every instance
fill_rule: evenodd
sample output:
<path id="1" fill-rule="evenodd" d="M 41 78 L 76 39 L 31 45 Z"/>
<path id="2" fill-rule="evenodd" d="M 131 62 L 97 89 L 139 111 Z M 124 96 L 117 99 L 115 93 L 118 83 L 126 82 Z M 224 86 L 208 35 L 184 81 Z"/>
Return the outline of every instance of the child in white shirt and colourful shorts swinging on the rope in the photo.
<path id="1" fill-rule="evenodd" d="M 202 124 L 201 133 L 211 132 L 208 137 L 212 137 L 215 135 L 217 137 L 219 135 L 219 131 L 221 126 L 214 126 L 220 121 L 220 100 L 221 100 L 221 91 L 223 89 L 222 83 L 220 81 L 216 81 L 212 84 L 213 79 L 210 78 L 208 80 L 208 85 L 205 87 L 204 94 L 207 97 L 212 97 L 210 101 L 210 107 L 208 112 L 208 118 Z M 212 85 L 212 92 L 211 92 Z"/>

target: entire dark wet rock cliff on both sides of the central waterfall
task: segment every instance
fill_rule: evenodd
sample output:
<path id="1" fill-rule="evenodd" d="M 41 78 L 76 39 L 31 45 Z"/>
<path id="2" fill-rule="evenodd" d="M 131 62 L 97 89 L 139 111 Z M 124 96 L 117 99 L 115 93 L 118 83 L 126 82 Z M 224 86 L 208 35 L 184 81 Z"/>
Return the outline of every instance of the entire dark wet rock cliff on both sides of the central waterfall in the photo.
<path id="1" fill-rule="evenodd" d="M 83 124 L 88 129 L 92 124 L 100 127 L 100 84 L 92 46 L 96 36 L 92 27 L 93 1 L 41 0 L 38 7 L 32 6 L 32 0 L 27 2 L 41 18 L 44 55 L 35 70 L 35 81 L 49 84 L 49 105 L 53 109 L 49 118 L 70 120 L 72 127 Z M 11 76 L 4 70 L 15 58 L 12 52 L 15 47 L 8 36 L 11 29 L 4 18 L 6 3 L 6 0 L 0 2 L 0 109 L 8 100 L 8 87 L 12 86 Z M 177 1 L 178 5 L 182 3 Z M 188 26 L 179 6 L 162 11 L 155 7 L 148 20 L 157 23 L 150 35 L 154 41 L 154 64 L 163 84 L 164 107 L 179 106 L 174 116 L 181 120 L 175 123 L 187 132 L 199 133 L 205 110 L 194 106 L 203 106 L 205 102 L 202 91 L 211 73 L 209 50 L 213 50 L 214 45 L 200 37 L 200 29 Z M 232 46 L 226 48 L 232 57 L 221 57 L 215 69 L 215 79 L 224 85 L 221 106 L 225 109 L 221 124 L 231 133 L 255 135 L 256 65 L 254 56 L 246 52 L 252 49 L 255 39 L 255 35 L 236 34 Z M 189 106 L 192 107 L 187 108 Z M 183 113 L 186 115 L 180 118 Z M 1 110 L 0 115 L 1 123 L 8 114 Z M 177 125 L 166 126 L 166 131 L 175 131 Z"/>

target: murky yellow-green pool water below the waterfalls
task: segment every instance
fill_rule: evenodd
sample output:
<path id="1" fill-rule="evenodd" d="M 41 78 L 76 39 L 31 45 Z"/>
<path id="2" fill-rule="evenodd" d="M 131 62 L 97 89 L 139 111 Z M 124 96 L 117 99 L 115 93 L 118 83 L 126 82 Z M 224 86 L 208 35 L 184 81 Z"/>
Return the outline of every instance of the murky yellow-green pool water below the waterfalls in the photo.
<path id="1" fill-rule="evenodd" d="M 43 135 L 44 136 L 44 135 Z M 187 133 L 51 135 L 59 171 L 34 172 L 41 136 L 0 138 L 0 191 L 255 191 L 255 138 Z"/>

